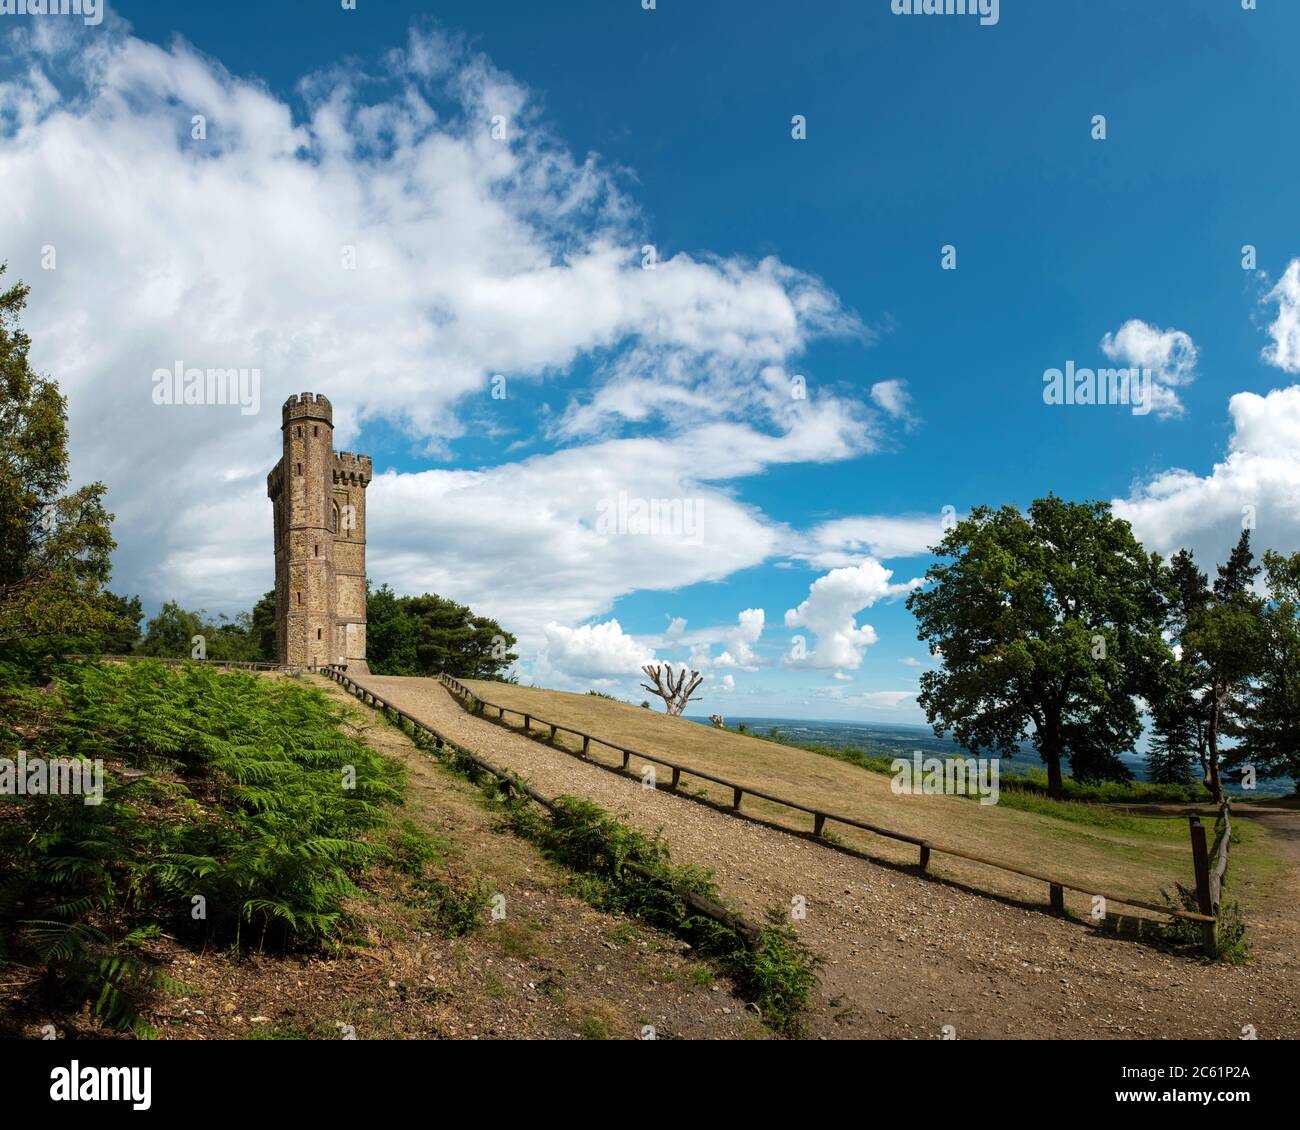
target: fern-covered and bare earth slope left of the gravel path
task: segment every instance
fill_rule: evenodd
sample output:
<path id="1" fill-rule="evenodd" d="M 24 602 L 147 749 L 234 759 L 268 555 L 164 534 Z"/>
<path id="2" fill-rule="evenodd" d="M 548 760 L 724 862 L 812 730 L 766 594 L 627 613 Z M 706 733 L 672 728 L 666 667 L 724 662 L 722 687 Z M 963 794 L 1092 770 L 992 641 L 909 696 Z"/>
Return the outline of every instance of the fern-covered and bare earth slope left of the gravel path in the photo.
<path id="1" fill-rule="evenodd" d="M 0 791 L 0 1038 L 776 1027 L 746 1008 L 764 970 L 706 961 L 667 914 L 655 928 L 595 905 L 645 886 L 578 883 L 499 801 L 322 679 L 0 662 L 0 771 L 20 749 L 100 759 L 103 795 Z M 779 971 L 803 975 L 800 960 Z"/>

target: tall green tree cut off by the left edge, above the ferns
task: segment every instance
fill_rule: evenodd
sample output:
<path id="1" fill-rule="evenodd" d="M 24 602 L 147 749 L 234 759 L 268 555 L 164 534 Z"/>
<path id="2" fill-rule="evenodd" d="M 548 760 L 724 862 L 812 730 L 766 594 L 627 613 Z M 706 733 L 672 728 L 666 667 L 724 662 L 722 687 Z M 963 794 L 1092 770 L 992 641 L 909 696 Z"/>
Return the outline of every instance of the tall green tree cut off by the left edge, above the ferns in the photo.
<path id="1" fill-rule="evenodd" d="M 27 293 L 0 293 L 0 644 L 118 624 L 101 596 L 114 549 L 105 488 L 65 493 L 68 402 L 29 364 L 18 325 Z"/>

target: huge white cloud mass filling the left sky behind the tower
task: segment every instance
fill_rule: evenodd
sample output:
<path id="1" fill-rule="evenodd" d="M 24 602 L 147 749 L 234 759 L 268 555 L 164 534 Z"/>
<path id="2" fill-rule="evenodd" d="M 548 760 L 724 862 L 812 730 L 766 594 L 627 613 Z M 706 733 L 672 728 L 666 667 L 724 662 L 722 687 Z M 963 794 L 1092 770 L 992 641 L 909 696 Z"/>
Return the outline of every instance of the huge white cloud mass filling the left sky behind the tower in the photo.
<path id="1" fill-rule="evenodd" d="M 304 389 L 334 403 L 339 449 L 382 424 L 433 468 L 378 468 L 376 580 L 468 601 L 533 654 L 551 622 L 784 551 L 728 480 L 875 446 L 871 403 L 790 395 L 810 341 L 870 337 L 833 293 L 771 257 L 662 248 L 644 269 L 627 181 L 455 39 L 412 34 L 289 98 L 112 17 L 75 42 L 55 25 L 6 31 L 0 56 L 0 183 L 23 202 L 0 250 L 69 394 L 74 476 L 109 484 L 116 586 L 212 610 L 270 588 L 265 475 Z M 155 404 L 177 363 L 257 369 L 260 414 Z M 497 374 L 586 371 L 536 434 L 490 398 Z M 467 433 L 537 454 L 439 469 Z M 601 525 L 620 495 L 698 503 L 698 527 Z"/>

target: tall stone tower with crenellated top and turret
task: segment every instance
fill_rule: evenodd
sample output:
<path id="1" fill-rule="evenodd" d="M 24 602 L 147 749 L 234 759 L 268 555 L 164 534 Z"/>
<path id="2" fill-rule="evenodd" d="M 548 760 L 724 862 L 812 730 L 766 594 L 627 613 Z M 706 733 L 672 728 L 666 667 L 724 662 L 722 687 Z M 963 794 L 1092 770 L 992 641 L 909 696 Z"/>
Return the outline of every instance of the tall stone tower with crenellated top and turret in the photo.
<path id="1" fill-rule="evenodd" d="M 334 450 L 322 395 L 290 397 L 283 455 L 266 476 L 276 521 L 280 662 L 365 671 L 365 488 L 370 456 Z"/>

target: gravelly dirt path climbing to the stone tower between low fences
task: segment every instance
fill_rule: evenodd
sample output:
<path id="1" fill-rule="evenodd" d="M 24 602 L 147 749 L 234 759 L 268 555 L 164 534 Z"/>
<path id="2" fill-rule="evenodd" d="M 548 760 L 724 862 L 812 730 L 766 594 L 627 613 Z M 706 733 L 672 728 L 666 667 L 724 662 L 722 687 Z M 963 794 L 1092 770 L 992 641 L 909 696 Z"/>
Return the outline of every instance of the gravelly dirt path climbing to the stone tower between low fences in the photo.
<path id="1" fill-rule="evenodd" d="M 945 1025 L 958 1039 L 1238 1039 L 1244 1025 L 1300 1036 L 1300 957 L 1286 923 L 1260 925 L 1248 965 L 1206 965 L 642 789 L 465 714 L 432 679 L 364 683 L 543 793 L 664 828 L 675 862 L 712 869 L 751 917 L 802 897 L 794 925 L 827 962 L 814 1036 L 939 1039 Z"/>

